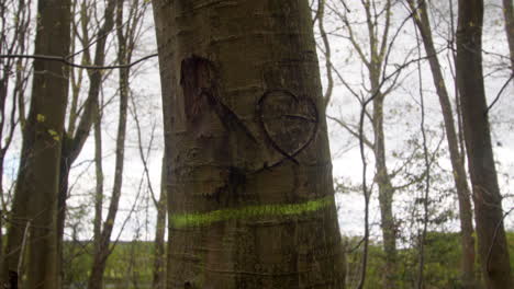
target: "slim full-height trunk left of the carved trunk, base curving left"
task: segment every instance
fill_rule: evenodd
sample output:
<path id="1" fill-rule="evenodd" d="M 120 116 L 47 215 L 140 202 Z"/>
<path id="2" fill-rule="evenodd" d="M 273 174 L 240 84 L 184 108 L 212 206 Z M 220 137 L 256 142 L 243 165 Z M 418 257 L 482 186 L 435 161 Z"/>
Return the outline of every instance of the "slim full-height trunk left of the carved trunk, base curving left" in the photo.
<path id="1" fill-rule="evenodd" d="M 125 65 L 130 61 L 127 58 L 127 42 L 123 34 L 123 0 L 116 0 L 116 32 L 119 41 L 118 58 L 120 65 Z M 128 108 L 128 69 L 121 69 L 119 76 L 120 83 L 120 115 L 118 123 L 116 136 L 116 153 L 114 166 L 114 185 L 112 188 L 111 204 L 103 230 L 100 236 L 98 251 L 94 252 L 93 264 L 91 267 L 91 276 L 89 277 L 88 289 L 101 289 L 103 286 L 103 273 L 105 271 L 107 259 L 111 254 L 109 247 L 111 241 L 112 229 L 118 215 L 120 204 L 121 189 L 123 183 L 123 166 L 125 154 L 125 136 L 126 136 L 126 114 Z"/>

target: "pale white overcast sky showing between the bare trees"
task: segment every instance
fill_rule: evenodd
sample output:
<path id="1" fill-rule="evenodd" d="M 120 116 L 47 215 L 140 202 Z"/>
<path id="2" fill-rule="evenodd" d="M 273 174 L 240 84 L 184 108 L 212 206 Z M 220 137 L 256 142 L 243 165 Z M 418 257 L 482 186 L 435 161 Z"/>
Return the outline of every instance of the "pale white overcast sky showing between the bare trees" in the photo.
<path id="1" fill-rule="evenodd" d="M 348 2 L 348 1 L 347 1 Z M 351 2 L 353 3 L 353 2 Z M 485 31 L 484 31 L 484 49 L 490 53 L 503 54 L 506 55 L 506 39 L 503 31 L 502 23 L 498 24 L 500 18 L 500 0 L 489 1 L 487 5 L 487 18 L 485 18 Z M 353 5 L 353 4 L 350 4 Z M 359 16 L 358 8 L 350 7 L 353 10 L 351 13 Z M 442 11 L 446 11 L 446 8 L 440 7 Z M 402 12 L 401 7 L 394 10 L 394 15 L 400 18 L 404 15 L 405 12 Z M 329 15 L 327 15 L 329 20 Z M 445 35 L 445 23 L 438 18 L 434 18 L 440 37 L 436 38 L 438 45 L 444 46 L 444 35 Z M 501 19 L 500 19 L 501 20 Z M 146 26 L 147 32 L 144 34 L 144 39 L 142 44 L 137 47 L 137 53 L 134 56 L 134 59 L 138 57 L 146 56 L 156 51 L 155 35 L 153 32 L 153 21 L 152 21 L 152 11 L 148 10 L 146 16 Z M 332 23 L 332 26 L 339 25 L 338 23 Z M 332 27 L 327 24 L 328 27 Z M 329 30 L 329 28 L 328 28 Z M 357 30 L 358 33 L 364 35 L 364 30 Z M 362 37 L 364 38 L 364 37 Z M 407 24 L 402 32 L 400 41 L 394 46 L 394 53 L 392 55 L 392 62 L 401 62 L 401 57 L 403 57 L 407 49 L 414 45 L 414 34 L 412 30 L 412 24 Z M 333 58 L 332 61 L 339 69 L 343 74 L 343 78 L 348 82 L 353 83 L 354 88 L 358 89 L 362 78 L 366 78 L 361 74 L 362 65 L 358 61 L 358 58 L 349 46 L 348 42 L 331 37 L 332 41 L 332 51 Z M 405 48 L 409 47 L 409 48 Z M 424 51 L 423 51 L 424 53 Z M 415 56 L 414 56 L 415 57 Z M 450 79 L 451 73 L 448 66 L 446 65 L 446 55 L 442 55 L 439 58 L 444 66 L 446 67 L 445 76 Z M 485 55 L 484 61 L 487 63 L 498 63 L 499 58 L 493 55 Z M 321 59 L 320 63 L 323 66 L 324 61 Z M 498 66 L 485 66 L 485 72 L 489 73 L 495 70 Z M 390 161 L 390 167 L 399 165 L 399 160 L 392 158 L 392 152 L 398 153 L 409 152 L 405 141 L 409 139 L 418 139 L 420 130 L 420 111 L 418 111 L 418 85 L 417 85 L 417 76 L 413 73 L 416 69 L 415 66 L 410 67 L 405 73 L 405 80 L 403 84 L 394 91 L 394 93 L 387 100 L 386 103 L 386 134 L 387 134 L 387 148 L 388 148 L 388 160 Z M 137 114 L 141 117 L 141 122 L 144 126 L 143 142 L 148 144 L 152 127 L 155 125 L 155 136 L 153 148 L 150 150 L 150 155 L 148 159 L 149 172 L 152 178 L 152 187 L 158 194 L 160 187 L 160 163 L 163 157 L 163 137 L 161 137 L 161 112 L 160 112 L 160 85 L 158 77 L 158 65 L 157 59 L 152 59 L 144 62 L 138 69 L 136 76 L 134 76 L 133 81 L 131 82 L 131 89 L 133 90 L 137 107 Z M 324 68 L 321 69 L 322 76 L 324 76 Z M 505 81 L 505 76 L 507 72 L 500 71 L 492 73 L 490 77 L 487 77 L 487 91 L 489 102 L 494 99 L 500 86 Z M 325 80 L 323 80 L 325 83 Z M 427 124 L 435 131 L 438 125 L 442 122 L 439 104 L 437 96 L 434 94 L 434 89 L 432 85 L 432 76 L 426 65 L 423 66 L 423 81 L 424 81 L 424 93 L 425 93 L 425 104 L 426 104 L 426 114 L 427 114 Z M 450 83 L 450 82 L 448 82 Z M 325 83 L 326 84 L 326 83 Z M 111 83 L 109 85 L 115 85 Z M 448 84 L 449 90 L 452 90 L 452 86 Z M 512 111 L 514 108 L 512 104 L 512 95 L 514 95 L 514 84 L 511 83 L 507 90 L 504 92 L 503 97 L 491 111 L 491 123 L 492 123 L 492 137 L 493 142 L 501 142 L 501 146 L 494 146 L 495 159 L 499 162 L 498 170 L 500 172 L 500 183 L 502 187 L 502 193 L 504 195 L 514 194 L 514 182 L 512 182 L 512 176 L 514 175 L 514 116 Z M 112 94 L 112 90 L 107 90 L 105 97 L 110 97 L 109 93 Z M 409 109 L 407 109 L 409 108 Z M 105 193 L 110 194 L 110 188 L 112 187 L 112 175 L 113 175 L 113 161 L 114 161 L 114 141 L 115 141 L 115 131 L 118 126 L 118 103 L 114 102 L 108 107 L 105 112 L 105 124 L 104 124 L 104 134 L 103 134 L 103 146 L 105 149 L 104 152 L 104 173 L 105 177 Z M 334 103 L 328 109 L 328 114 L 332 116 L 343 117 L 346 122 L 351 122 L 357 119 L 359 113 L 359 106 L 357 102 L 350 96 L 350 94 L 342 86 L 337 85 L 334 90 Z M 351 183 L 354 185 L 359 185 L 361 183 L 361 162 L 360 154 L 357 147 L 357 142 L 351 138 L 346 131 L 338 128 L 334 125 L 333 122 L 328 120 L 329 124 L 329 139 L 331 139 L 331 149 L 333 153 L 333 165 L 334 165 L 334 176 L 340 177 L 346 183 Z M 437 142 L 440 139 L 442 131 L 438 131 L 429 139 L 431 148 L 435 148 Z M 134 206 L 134 201 L 137 198 L 136 209 L 137 212 L 133 213 L 130 220 L 126 222 L 124 232 L 122 233 L 122 239 L 132 240 L 134 236 L 143 240 L 152 240 L 154 238 L 154 227 L 155 227 L 155 209 L 152 206 L 152 201 L 148 199 L 148 192 L 146 188 L 137 196 L 137 188 L 142 182 L 143 177 L 143 165 L 139 160 L 139 154 L 137 151 L 137 134 L 135 130 L 135 125 L 130 117 L 130 127 L 127 130 L 127 149 L 125 154 L 125 177 L 123 186 L 123 197 L 120 204 L 120 212 L 116 219 L 116 228 L 120 230 L 121 223 L 127 218 L 127 211 Z M 88 205 L 89 209 L 85 211 L 89 220 L 92 220 L 92 203 L 91 195 L 94 189 L 94 167 L 90 162 L 93 157 L 93 142 L 92 137 L 86 143 L 86 147 L 80 154 L 79 160 L 77 160 L 77 167 L 72 171 L 70 180 L 80 176 L 80 181 L 74 185 L 72 198 L 70 200 L 71 207 L 78 207 L 81 205 Z M 16 164 L 18 155 L 15 152 L 19 150 L 19 143 L 14 143 L 13 150 L 11 152 L 11 158 L 7 160 L 5 165 L 5 178 L 12 180 L 11 176 L 15 173 L 14 167 Z M 446 146 L 443 146 L 446 147 Z M 373 173 L 373 163 L 370 151 L 368 151 L 368 184 L 372 181 Z M 10 164 L 11 163 L 11 164 Z M 448 161 L 442 161 L 440 165 L 445 170 L 450 170 Z M 12 174 L 10 174 L 10 172 Z M 393 182 L 395 184 L 403 183 L 404 180 L 395 178 Z M 448 181 L 448 180 L 447 180 Z M 449 181 L 451 181 L 449 178 Z M 145 182 L 145 181 L 143 181 Z M 70 181 L 74 183 L 74 181 Z M 144 183 L 146 184 L 146 183 Z M 451 182 L 442 182 L 435 184 L 438 187 L 450 187 Z M 147 186 L 144 186 L 147 187 Z M 412 199 L 415 196 L 418 196 L 421 193 L 416 192 L 415 188 L 411 189 L 407 193 L 398 194 L 395 196 L 394 210 L 399 219 L 407 218 L 412 207 Z M 433 193 L 436 194 L 436 193 Z M 373 194 L 376 197 L 376 193 Z M 359 193 L 351 193 L 337 196 L 338 204 L 338 216 L 339 224 L 342 232 L 346 235 L 358 235 L 362 234 L 364 231 L 364 198 Z M 455 196 L 447 196 L 440 203 L 443 206 L 437 209 L 449 208 L 450 210 L 456 210 L 456 198 Z M 509 210 L 514 206 L 514 200 L 512 197 L 505 199 L 503 207 L 504 210 Z M 105 204 L 104 210 L 107 212 L 108 205 Z M 378 201 L 376 198 L 371 203 L 370 220 L 372 224 L 372 235 L 379 238 L 379 220 L 380 215 L 378 210 Z M 70 220 L 71 222 L 74 219 Z M 506 227 L 511 230 L 514 230 L 514 216 L 509 216 L 506 218 Z M 92 228 L 91 222 L 81 222 L 82 232 L 79 234 L 80 238 L 89 238 L 90 230 Z M 439 228 L 440 229 L 440 228 Z M 444 230 L 457 230 L 458 223 L 451 221 L 445 224 Z M 70 231 L 68 231 L 70 233 Z M 118 233 L 114 232 L 113 236 Z"/>

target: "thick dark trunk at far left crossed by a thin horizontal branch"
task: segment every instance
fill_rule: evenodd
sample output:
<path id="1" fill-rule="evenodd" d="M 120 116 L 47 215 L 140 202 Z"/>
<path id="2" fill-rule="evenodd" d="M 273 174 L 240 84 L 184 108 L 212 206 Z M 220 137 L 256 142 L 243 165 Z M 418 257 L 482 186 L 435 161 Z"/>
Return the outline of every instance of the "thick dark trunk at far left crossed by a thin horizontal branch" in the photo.
<path id="1" fill-rule="evenodd" d="M 66 56 L 70 45 L 69 1 L 41 0 L 37 5 L 35 54 Z M 64 117 L 68 95 L 67 68 L 34 60 L 29 119 L 8 229 L 2 284 L 15 288 L 23 240 L 27 270 L 24 288 L 58 288 L 57 192 Z M 25 229 L 29 228 L 27 234 Z"/>

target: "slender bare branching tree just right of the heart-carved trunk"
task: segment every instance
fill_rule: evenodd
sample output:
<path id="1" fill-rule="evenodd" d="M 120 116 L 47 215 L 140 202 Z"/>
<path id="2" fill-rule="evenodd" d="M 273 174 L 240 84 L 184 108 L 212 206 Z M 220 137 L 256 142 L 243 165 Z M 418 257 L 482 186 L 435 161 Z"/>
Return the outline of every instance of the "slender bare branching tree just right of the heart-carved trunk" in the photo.
<path id="1" fill-rule="evenodd" d="M 396 288 L 395 275 L 396 275 L 396 224 L 394 222 L 394 215 L 392 210 L 392 201 L 395 187 L 392 185 L 392 172 L 389 172 L 386 157 L 386 134 L 383 128 L 384 115 L 383 106 L 387 96 L 396 86 L 396 81 L 400 73 L 393 73 L 393 78 L 390 82 L 386 79 L 386 68 L 389 65 L 388 57 L 391 53 L 390 49 L 394 43 L 395 36 L 394 31 L 391 33 L 391 16 L 393 1 L 387 0 L 381 3 L 376 1 L 364 0 L 360 1 L 360 7 L 364 18 L 364 26 L 366 30 L 365 43 L 360 42 L 356 34 L 356 27 L 359 22 L 353 23 L 349 18 L 349 9 L 345 5 L 344 9 L 338 9 L 335 5 L 327 4 L 328 9 L 343 22 L 345 32 L 334 32 L 333 35 L 347 39 L 354 50 L 356 51 L 359 60 L 364 63 L 366 74 L 368 77 L 369 88 L 362 85 L 364 91 L 367 92 L 368 96 L 364 97 L 355 90 L 350 88 L 346 81 L 339 77 L 343 84 L 359 100 L 361 108 L 366 109 L 361 113 L 361 122 L 359 125 L 347 124 L 346 122 L 337 118 L 332 118 L 344 129 L 346 129 L 351 136 L 358 138 L 361 144 L 370 148 L 375 155 L 375 182 L 378 185 L 379 190 L 379 204 L 380 204 L 380 216 L 381 216 L 381 229 L 383 239 L 383 250 L 386 254 L 386 264 L 383 275 L 383 287 L 384 288 Z M 323 27 L 320 26 L 323 31 Z M 324 32 L 322 32 L 322 37 Z M 325 43 L 325 58 L 328 59 L 329 51 L 326 41 Z M 327 62 L 327 71 L 333 70 L 332 65 Z M 398 71 L 396 71 L 398 72 Z M 337 73 L 340 76 L 339 73 Z M 328 99 L 328 97 L 326 97 Z M 369 103 L 372 105 L 372 111 L 364 105 Z M 362 130 L 364 122 L 369 119 L 371 122 L 373 135 L 371 137 L 366 136 Z M 362 131 L 361 131 L 362 130 Z M 364 151 L 364 148 L 361 148 Z M 362 159 L 362 161 L 365 161 Z M 365 164 L 366 166 L 366 164 Z M 367 190 L 367 189 L 366 189 Z M 365 196 L 369 199 L 370 192 L 365 192 Z M 368 204 L 369 201 L 366 201 Z M 368 207 L 368 205 L 367 205 Z M 366 256 L 365 256 L 366 259 Z M 366 270 L 366 268 L 362 268 Z M 362 273 L 364 274 L 364 273 Z M 364 278 L 362 278 L 364 279 Z M 364 284 L 361 284 L 364 286 Z"/>

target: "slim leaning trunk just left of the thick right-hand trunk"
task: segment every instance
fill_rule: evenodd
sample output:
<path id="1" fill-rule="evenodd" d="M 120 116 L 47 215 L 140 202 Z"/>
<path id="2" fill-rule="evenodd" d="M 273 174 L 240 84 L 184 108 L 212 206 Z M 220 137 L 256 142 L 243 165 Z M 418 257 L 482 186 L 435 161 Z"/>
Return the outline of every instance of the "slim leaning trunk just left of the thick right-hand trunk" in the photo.
<path id="1" fill-rule="evenodd" d="M 474 278 L 474 238 L 473 238 L 473 215 L 471 210 L 470 192 L 467 182 L 466 170 L 461 162 L 461 152 L 459 151 L 459 141 L 455 130 L 454 113 L 451 111 L 451 103 L 446 89 L 445 79 L 440 69 L 437 51 L 432 38 L 432 28 L 426 10 L 426 3 L 423 0 L 417 0 L 414 4 L 409 1 L 411 9 L 417 7 L 417 12 L 414 18 L 416 26 L 423 38 L 425 51 L 428 55 L 428 63 L 432 70 L 434 86 L 436 88 L 439 97 L 440 108 L 443 111 L 443 119 L 446 128 L 446 139 L 448 143 L 451 167 L 454 172 L 455 187 L 457 189 L 457 197 L 459 200 L 459 219 L 461 230 L 461 270 L 462 270 L 462 285 L 463 288 L 476 288 L 477 281 Z"/>

